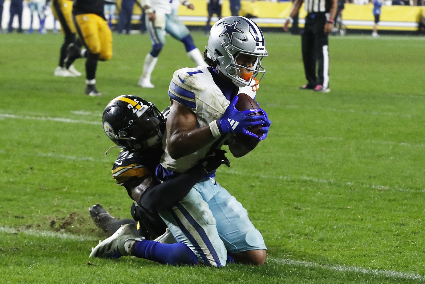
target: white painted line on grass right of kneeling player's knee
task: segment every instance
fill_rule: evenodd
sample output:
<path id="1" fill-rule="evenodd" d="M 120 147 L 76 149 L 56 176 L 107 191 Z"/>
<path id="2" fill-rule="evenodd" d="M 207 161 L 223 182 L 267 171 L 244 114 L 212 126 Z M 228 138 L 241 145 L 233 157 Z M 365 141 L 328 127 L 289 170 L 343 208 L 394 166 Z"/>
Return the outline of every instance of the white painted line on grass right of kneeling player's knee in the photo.
<path id="1" fill-rule="evenodd" d="M 306 268 L 320 268 L 324 270 L 335 270 L 340 272 L 352 272 L 357 274 L 370 274 L 375 276 L 385 276 L 385 277 L 393 277 L 393 278 L 401 278 L 403 280 L 425 280 L 425 277 L 420 274 L 415 273 L 404 273 L 396 270 L 380 270 L 380 269 L 370 269 L 356 266 L 348 266 L 348 265 L 328 265 L 328 264 L 318 264 L 310 261 L 299 261 L 293 259 L 277 259 L 277 258 L 269 258 L 269 260 L 275 261 L 278 264 L 285 264 L 291 266 L 298 267 L 306 267 Z"/>

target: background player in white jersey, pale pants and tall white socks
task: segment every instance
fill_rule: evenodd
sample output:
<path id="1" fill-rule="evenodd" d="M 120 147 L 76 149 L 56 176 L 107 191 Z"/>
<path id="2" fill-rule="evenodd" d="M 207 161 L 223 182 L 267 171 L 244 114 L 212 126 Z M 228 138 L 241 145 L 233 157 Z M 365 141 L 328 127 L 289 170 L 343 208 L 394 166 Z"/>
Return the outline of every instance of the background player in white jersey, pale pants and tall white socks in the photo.
<path id="1" fill-rule="evenodd" d="M 164 46 L 166 32 L 184 44 L 187 56 L 193 60 L 196 66 L 207 65 L 204 62 L 201 52 L 195 46 L 189 30 L 181 20 L 178 19 L 177 14 L 172 12 L 173 5 L 170 2 L 172 1 L 141 0 L 142 7 L 146 14 L 146 29 L 149 32 L 150 41 L 152 43 L 152 49 L 144 59 L 143 71 L 138 83 L 138 85 L 143 88 L 155 87 L 150 82 L 150 76 L 158 61 L 159 53 Z M 188 0 L 182 1 L 181 3 L 189 9 L 194 9 L 193 4 Z"/>

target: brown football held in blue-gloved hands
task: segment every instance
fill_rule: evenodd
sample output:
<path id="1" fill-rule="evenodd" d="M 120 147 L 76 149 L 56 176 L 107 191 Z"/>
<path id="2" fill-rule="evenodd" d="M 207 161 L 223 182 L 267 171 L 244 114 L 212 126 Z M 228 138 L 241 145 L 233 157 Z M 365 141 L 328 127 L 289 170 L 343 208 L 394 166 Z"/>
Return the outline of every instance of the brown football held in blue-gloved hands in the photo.
<path id="1" fill-rule="evenodd" d="M 235 107 L 238 111 L 244 111 L 247 109 L 256 109 L 258 108 L 258 103 L 251 98 L 249 95 L 246 95 L 244 93 L 240 93 L 238 95 L 239 99 L 238 102 L 236 103 Z M 256 112 L 252 115 L 260 115 L 260 112 Z M 235 139 L 236 143 L 238 143 L 239 146 L 241 146 L 242 148 L 251 151 L 252 149 L 254 149 L 257 144 L 258 144 L 258 138 L 263 135 L 263 132 L 261 132 L 260 130 L 261 126 L 253 126 L 253 127 L 249 127 L 246 130 L 248 130 L 249 132 L 254 133 L 255 135 L 257 135 L 257 138 L 249 136 L 249 135 L 245 135 L 245 134 L 234 134 L 233 138 Z"/>

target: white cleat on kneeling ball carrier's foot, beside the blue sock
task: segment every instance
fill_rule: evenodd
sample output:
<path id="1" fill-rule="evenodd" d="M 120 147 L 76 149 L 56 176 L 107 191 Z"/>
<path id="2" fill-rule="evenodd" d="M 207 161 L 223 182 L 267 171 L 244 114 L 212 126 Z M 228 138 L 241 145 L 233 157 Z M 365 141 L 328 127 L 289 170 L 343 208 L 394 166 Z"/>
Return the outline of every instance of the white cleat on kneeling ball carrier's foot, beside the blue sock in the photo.
<path id="1" fill-rule="evenodd" d="M 113 235 L 91 249 L 90 257 L 120 258 L 131 255 L 130 249 L 136 241 L 144 240 L 133 224 L 124 224 Z"/>

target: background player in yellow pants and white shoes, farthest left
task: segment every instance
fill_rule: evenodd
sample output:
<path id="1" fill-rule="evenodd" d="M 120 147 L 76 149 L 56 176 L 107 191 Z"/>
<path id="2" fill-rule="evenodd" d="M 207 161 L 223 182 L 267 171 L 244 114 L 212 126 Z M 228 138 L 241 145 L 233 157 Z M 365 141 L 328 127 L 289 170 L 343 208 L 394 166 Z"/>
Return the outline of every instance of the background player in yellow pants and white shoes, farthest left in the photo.
<path id="1" fill-rule="evenodd" d="M 72 21 L 72 0 L 51 0 L 51 9 L 54 17 L 59 21 L 64 40 L 60 47 L 59 66 L 54 71 L 55 76 L 61 77 L 78 77 L 81 73 L 78 72 L 74 65 L 65 67 L 65 57 L 68 46 L 74 44 L 81 47 L 81 43 L 75 37 L 75 25 Z M 79 48 L 78 48 L 79 49 Z"/>

